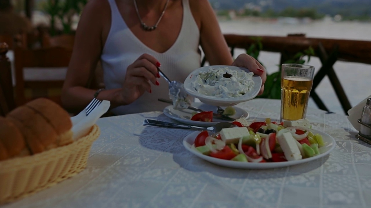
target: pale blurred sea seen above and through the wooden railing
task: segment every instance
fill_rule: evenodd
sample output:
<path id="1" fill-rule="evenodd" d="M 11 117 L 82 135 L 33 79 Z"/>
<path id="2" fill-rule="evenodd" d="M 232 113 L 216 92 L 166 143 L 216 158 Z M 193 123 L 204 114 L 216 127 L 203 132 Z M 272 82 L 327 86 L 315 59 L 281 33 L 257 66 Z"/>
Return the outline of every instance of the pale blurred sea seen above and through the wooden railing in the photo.
<path id="1" fill-rule="evenodd" d="M 219 24 L 223 34 L 287 36 L 292 33 L 304 33 L 306 37 L 371 41 L 371 23 L 331 20 L 307 21 L 305 23 L 285 20 L 219 20 Z M 241 53 L 244 53 L 244 50 L 236 50 L 234 55 L 237 57 Z M 278 70 L 279 59 L 279 53 L 263 51 L 259 55 L 259 61 L 266 67 L 268 74 Z M 317 57 L 311 57 L 311 61 L 307 64 L 315 66 L 316 72 L 322 65 Z M 334 70 L 352 107 L 371 94 L 371 65 L 336 61 Z M 316 88 L 316 93 L 329 111 L 345 114 L 327 76 Z M 309 101 L 309 106 L 317 108 L 313 100 Z"/>

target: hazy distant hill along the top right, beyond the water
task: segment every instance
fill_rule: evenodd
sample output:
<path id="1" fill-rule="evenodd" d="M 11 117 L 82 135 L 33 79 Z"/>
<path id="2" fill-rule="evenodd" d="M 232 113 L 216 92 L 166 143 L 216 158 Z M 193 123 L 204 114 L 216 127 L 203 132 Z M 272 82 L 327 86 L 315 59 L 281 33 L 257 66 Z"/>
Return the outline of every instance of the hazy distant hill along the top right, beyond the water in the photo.
<path id="1" fill-rule="evenodd" d="M 209 0 L 214 9 L 241 9 L 246 6 L 260 7 L 262 11 L 281 11 L 287 7 L 315 8 L 322 14 L 369 15 L 371 0 Z"/>

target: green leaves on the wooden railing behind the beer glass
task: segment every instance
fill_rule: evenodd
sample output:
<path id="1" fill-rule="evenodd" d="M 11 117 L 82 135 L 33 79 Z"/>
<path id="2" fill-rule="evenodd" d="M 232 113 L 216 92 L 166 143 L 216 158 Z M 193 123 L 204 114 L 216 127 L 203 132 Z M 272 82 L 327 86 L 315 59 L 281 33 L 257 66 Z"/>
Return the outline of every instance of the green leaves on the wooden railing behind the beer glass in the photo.
<path id="1" fill-rule="evenodd" d="M 260 51 L 263 49 L 263 45 L 261 43 L 262 38 L 253 37 L 253 40 L 255 41 L 255 43 L 251 44 L 249 48 L 246 48 L 246 53 L 259 61 L 258 57 L 259 57 Z M 314 54 L 315 53 L 314 53 L 313 48 L 309 47 L 308 49 L 304 51 L 300 51 L 296 53 L 294 56 L 292 56 L 292 58 L 285 61 L 285 64 L 286 63 L 298 63 L 298 64 L 308 63 L 311 59 L 311 56 L 313 56 Z M 305 57 L 307 57 L 306 60 L 305 60 Z M 267 74 L 267 80 L 265 81 L 264 87 L 265 88 L 264 88 L 263 94 L 257 96 L 257 98 L 281 99 L 281 66 L 280 65 L 278 65 L 278 71 L 272 74 Z"/>

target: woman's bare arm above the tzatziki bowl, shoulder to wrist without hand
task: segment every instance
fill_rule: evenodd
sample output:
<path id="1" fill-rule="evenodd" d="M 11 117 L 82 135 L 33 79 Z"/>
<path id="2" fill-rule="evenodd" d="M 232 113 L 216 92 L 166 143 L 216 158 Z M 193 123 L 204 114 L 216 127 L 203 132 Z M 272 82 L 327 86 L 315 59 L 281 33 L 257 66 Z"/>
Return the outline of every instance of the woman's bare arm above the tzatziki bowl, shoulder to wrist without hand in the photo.
<path id="1" fill-rule="evenodd" d="M 193 16 L 200 27 L 200 41 L 210 65 L 231 65 L 233 62 L 218 20 L 208 0 L 190 1 Z"/>

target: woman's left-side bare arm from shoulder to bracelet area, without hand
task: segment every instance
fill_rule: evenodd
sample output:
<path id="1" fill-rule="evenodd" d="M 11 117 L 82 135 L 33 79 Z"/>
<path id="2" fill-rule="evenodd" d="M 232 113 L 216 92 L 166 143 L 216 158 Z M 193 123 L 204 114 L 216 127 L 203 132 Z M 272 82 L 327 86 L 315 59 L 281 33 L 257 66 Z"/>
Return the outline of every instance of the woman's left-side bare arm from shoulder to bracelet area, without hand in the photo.
<path id="1" fill-rule="evenodd" d="M 110 22 L 108 1 L 92 0 L 86 4 L 76 31 L 73 53 L 62 89 L 62 103 L 65 108 L 80 111 L 93 99 L 96 90 L 85 88 L 89 74 L 95 70 L 104 46 L 102 36 L 105 24 Z M 109 26 L 108 26 L 109 27 Z M 100 100 L 111 101 L 112 106 L 123 103 L 121 89 L 104 90 Z"/>

